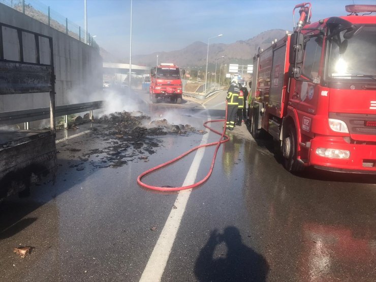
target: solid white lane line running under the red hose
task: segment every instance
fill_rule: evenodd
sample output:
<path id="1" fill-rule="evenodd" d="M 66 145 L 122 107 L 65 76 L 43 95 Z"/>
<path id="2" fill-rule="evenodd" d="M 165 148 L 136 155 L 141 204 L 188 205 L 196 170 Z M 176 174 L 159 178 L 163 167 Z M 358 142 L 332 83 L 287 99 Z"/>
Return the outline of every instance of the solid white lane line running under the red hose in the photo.
<path id="1" fill-rule="evenodd" d="M 203 136 L 200 145 L 206 144 L 208 138 L 209 133 Z M 195 183 L 204 152 L 205 147 L 197 150 L 190 170 L 185 177 L 183 186 Z M 158 241 L 156 241 L 153 252 L 151 253 L 144 272 L 142 273 L 140 282 L 161 281 L 191 192 L 192 189 L 183 190 L 177 195 L 174 203 L 177 209 L 171 209 L 165 226 L 162 229 L 161 235 L 158 238 Z"/>

